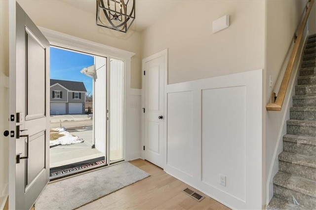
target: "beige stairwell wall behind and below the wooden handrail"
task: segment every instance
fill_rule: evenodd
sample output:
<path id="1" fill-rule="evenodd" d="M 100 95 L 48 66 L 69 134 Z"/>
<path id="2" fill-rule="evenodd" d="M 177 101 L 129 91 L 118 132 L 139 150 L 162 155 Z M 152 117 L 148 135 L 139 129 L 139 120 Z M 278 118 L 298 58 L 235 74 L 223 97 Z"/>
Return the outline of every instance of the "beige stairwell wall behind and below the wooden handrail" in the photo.
<path id="1" fill-rule="evenodd" d="M 284 100 L 281 111 L 266 111 L 265 106 L 271 103 L 272 91 L 278 91 L 294 45 L 293 35 L 302 19 L 306 0 L 273 0 L 266 1 L 266 60 L 263 83 L 263 117 L 264 117 L 264 191 L 268 204 L 273 196 L 273 177 L 278 171 L 278 154 L 282 151 L 282 136 L 286 134 L 286 119 L 289 118 L 291 96 L 294 94 L 295 72 Z M 314 5 L 315 6 L 315 5 Z M 315 20 L 314 20 L 315 22 Z M 305 37 L 303 38 L 304 44 Z M 302 48 L 300 48 L 302 50 Z M 299 54 L 300 55 L 300 54 Z M 297 70 L 300 56 L 294 71 Z M 269 86 L 269 75 L 273 84 Z"/>

